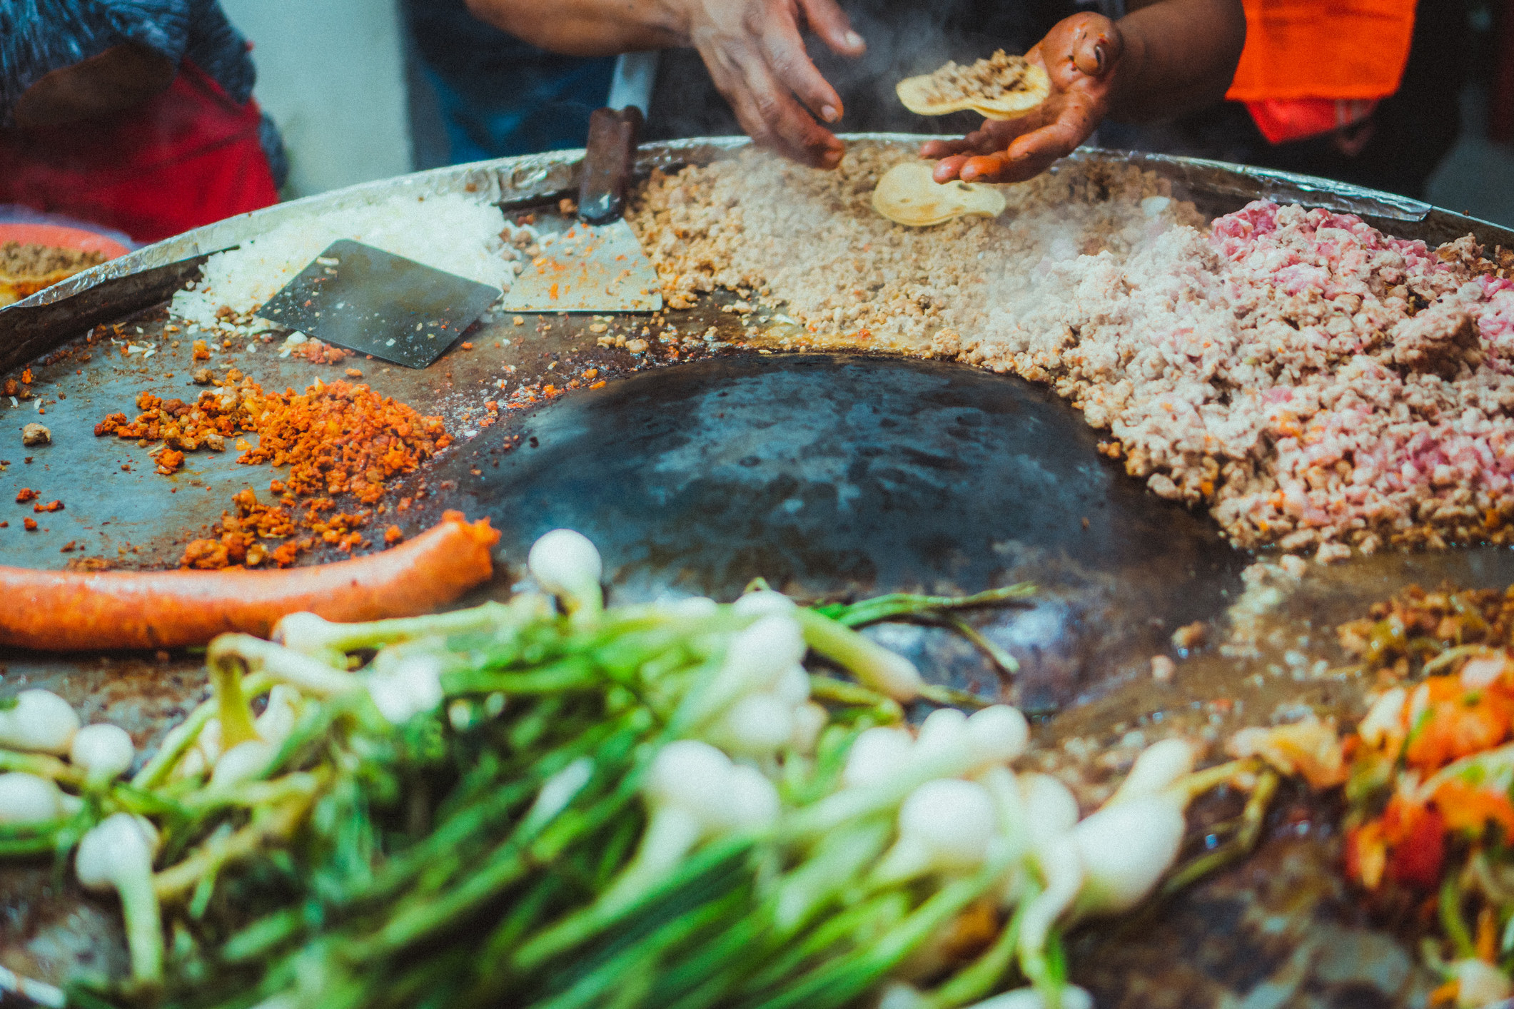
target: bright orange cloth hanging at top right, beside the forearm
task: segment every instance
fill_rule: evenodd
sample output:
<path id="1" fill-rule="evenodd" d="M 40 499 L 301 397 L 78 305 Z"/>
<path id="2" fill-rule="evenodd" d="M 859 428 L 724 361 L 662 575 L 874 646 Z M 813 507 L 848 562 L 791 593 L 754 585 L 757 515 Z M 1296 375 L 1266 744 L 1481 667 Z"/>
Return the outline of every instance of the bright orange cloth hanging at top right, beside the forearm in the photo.
<path id="1" fill-rule="evenodd" d="M 1226 98 L 1384 98 L 1399 89 L 1414 0 L 1243 3 L 1246 48 Z"/>

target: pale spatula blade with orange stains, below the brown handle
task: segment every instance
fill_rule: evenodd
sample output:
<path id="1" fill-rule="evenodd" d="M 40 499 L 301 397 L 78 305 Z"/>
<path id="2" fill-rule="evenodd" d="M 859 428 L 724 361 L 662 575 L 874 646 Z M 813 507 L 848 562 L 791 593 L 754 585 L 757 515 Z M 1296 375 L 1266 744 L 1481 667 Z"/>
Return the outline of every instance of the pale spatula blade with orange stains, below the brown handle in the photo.
<path id="1" fill-rule="evenodd" d="M 662 286 L 625 221 L 575 222 L 527 263 L 504 295 L 510 312 L 660 312 Z"/>

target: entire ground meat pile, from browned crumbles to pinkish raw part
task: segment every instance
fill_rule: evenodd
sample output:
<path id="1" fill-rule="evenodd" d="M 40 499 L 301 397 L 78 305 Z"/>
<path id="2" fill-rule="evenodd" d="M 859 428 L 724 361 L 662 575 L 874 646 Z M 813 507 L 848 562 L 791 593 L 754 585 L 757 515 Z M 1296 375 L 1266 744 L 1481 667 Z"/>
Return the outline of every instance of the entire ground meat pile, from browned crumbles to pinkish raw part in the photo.
<path id="1" fill-rule="evenodd" d="M 1205 228 L 1110 165 L 1005 188 L 996 221 L 911 230 L 868 206 L 910 156 L 659 175 L 633 225 L 674 306 L 730 287 L 831 343 L 1054 384 L 1131 475 L 1240 545 L 1514 540 L 1514 281 L 1470 238 L 1429 250 L 1272 203 Z"/>

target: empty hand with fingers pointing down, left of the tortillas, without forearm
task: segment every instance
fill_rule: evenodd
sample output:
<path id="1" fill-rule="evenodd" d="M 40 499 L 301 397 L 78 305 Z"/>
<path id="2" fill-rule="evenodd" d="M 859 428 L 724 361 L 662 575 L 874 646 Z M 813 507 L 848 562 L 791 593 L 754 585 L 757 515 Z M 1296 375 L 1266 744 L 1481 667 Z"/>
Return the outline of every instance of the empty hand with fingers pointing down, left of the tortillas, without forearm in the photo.
<path id="1" fill-rule="evenodd" d="M 683 35 L 746 133 L 793 160 L 834 168 L 843 145 L 816 118 L 836 123 L 842 100 L 815 68 L 801 18 L 843 56 L 866 45 L 836 0 L 675 0 Z"/>

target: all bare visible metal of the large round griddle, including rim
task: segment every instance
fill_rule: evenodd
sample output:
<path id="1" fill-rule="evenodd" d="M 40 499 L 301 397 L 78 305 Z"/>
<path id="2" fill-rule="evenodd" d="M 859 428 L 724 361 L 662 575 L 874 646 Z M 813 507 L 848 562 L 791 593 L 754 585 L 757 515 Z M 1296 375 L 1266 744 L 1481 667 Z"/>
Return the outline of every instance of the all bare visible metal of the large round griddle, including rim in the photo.
<path id="1" fill-rule="evenodd" d="M 914 144 L 922 138 L 854 136 L 852 142 Z M 716 138 L 642 148 L 639 168 L 702 163 L 743 139 Z M 144 365 L 117 348 L 33 363 L 47 414 L 0 401 L 0 439 L 44 419 L 55 445 L 15 448 L 0 472 L 0 563 L 62 567 L 71 555 L 109 555 L 126 566 L 171 566 L 186 537 L 213 522 L 230 493 L 276 475 L 239 467 L 232 454 L 191 455 L 185 472 L 151 472 L 145 449 L 94 439 L 95 421 L 130 411 L 136 392 L 192 398 L 188 343 L 168 346 L 164 303 L 207 253 L 279 224 L 395 194 L 471 192 L 512 209 L 553 215 L 577 182 L 580 151 L 438 169 L 312 197 L 138 250 L 0 310 L 0 377 L 62 349 L 79 349 L 88 327 L 120 322 L 162 357 Z M 1363 215 L 1403 238 L 1441 242 L 1473 231 L 1514 245 L 1514 233 L 1354 186 L 1190 159 L 1079 151 L 1075 160 L 1134 160 L 1172 180 L 1175 195 L 1210 215 L 1273 197 Z M 722 295 L 671 312 L 683 331 L 715 327 L 736 342 Z M 391 511 L 406 534 L 445 508 L 488 514 L 504 534 L 495 582 L 475 598 L 503 596 L 539 532 L 569 525 L 606 554 L 612 593 L 730 598 L 754 576 L 804 596 L 896 590 L 977 591 L 1034 581 L 1023 607 L 974 616 L 1010 650 L 1020 675 L 1005 682 L 970 646 L 934 628 L 887 628 L 899 647 L 954 685 L 1008 696 L 1054 713 L 1039 726 L 1043 752 L 1111 747 L 1178 723 L 1219 737 L 1301 702 L 1349 709 L 1360 690 L 1329 673 L 1296 679 L 1288 654 L 1332 652 L 1334 623 L 1367 601 L 1443 578 L 1505 585 L 1514 554 L 1491 548 L 1440 555 L 1384 555 L 1311 575 L 1284 593 L 1261 649 L 1234 658 L 1213 647 L 1216 622 L 1240 593 L 1252 558 L 1232 551 L 1202 514 L 1157 499 L 1095 452 L 1096 433 L 1046 390 L 961 365 L 860 355 L 784 355 L 751 349 L 648 354 L 600 346 L 583 316 L 509 321 L 469 334 L 425 372 L 359 362 L 363 381 L 424 411 L 441 413 L 460 439 L 397 495 Z M 612 321 L 612 328 L 630 324 Z M 138 333 L 138 327 L 141 331 Z M 265 354 L 235 359 L 265 387 L 303 387 L 341 377 Z M 484 427 L 481 402 L 497 383 L 560 381 L 597 368 L 603 389 L 578 389 L 530 410 L 504 411 Z M 513 371 L 512 371 L 513 369 Z M 173 377 L 168 374 L 173 372 Z M 3 443 L 0 443 L 3 445 Z M 123 463 L 130 469 L 123 469 Z M 20 487 L 62 496 L 68 508 L 44 529 L 20 536 Z M 422 493 L 424 492 L 424 496 Z M 15 508 L 15 511 L 6 511 Z M 27 511 L 30 514 L 30 511 Z M 9 536 L 8 536 L 9 534 Z M 332 560 L 316 555 L 313 560 Z M 1184 663 L 1170 684 L 1148 675 L 1154 654 L 1175 654 L 1178 625 L 1211 622 L 1211 647 Z M 1338 661 L 1338 654 L 1334 654 Z M 0 652 L 0 696 L 45 685 L 109 717 L 150 746 L 204 693 L 192 655 L 44 657 Z M 1223 702 L 1223 705 L 1220 703 Z M 1119 762 L 1108 764 L 1117 773 Z M 1078 939 L 1081 977 L 1099 1004 L 1408 1004 L 1434 979 L 1354 906 L 1329 868 L 1328 827 L 1279 827 L 1249 868 L 1188 891 L 1157 920 Z M 1285 837 L 1284 837 L 1285 835 Z M 109 908 L 56 891 L 45 870 L 0 865 L 0 965 L 58 979 L 71 965 L 123 962 Z M 1416 994 L 1419 992 L 1419 994 Z M 1304 1004 L 1304 1003 L 1299 1003 Z"/>

